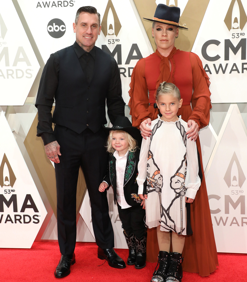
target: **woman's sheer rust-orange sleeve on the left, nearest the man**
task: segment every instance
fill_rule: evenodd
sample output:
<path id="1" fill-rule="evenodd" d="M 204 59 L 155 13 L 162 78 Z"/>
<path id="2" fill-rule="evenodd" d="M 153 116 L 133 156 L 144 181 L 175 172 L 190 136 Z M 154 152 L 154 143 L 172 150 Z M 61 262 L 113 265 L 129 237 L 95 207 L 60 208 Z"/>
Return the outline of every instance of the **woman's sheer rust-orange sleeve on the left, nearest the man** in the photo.
<path id="1" fill-rule="evenodd" d="M 140 123 L 153 114 L 149 112 L 149 95 L 145 79 L 145 58 L 140 59 L 134 67 L 131 75 L 128 106 L 132 116 L 132 126 L 139 128 Z"/>

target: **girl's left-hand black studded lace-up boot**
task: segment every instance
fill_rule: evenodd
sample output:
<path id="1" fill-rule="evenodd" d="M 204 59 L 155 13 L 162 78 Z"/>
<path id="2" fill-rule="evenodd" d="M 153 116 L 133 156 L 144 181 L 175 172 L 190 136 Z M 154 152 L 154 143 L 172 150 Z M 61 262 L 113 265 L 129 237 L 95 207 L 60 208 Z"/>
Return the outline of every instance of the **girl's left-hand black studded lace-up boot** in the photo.
<path id="1" fill-rule="evenodd" d="M 159 268 L 156 270 L 156 267 L 159 265 Z M 165 251 L 160 251 L 158 255 L 158 263 L 153 272 L 153 277 L 151 282 L 165 282 L 167 277 L 167 272 L 170 266 L 170 254 Z"/>

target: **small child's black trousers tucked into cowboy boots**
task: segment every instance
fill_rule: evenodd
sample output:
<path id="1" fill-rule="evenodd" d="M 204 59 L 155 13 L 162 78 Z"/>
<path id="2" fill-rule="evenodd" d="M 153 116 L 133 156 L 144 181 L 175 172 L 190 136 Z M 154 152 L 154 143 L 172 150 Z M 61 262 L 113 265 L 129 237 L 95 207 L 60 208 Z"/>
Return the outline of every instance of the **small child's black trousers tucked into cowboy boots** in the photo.
<path id="1" fill-rule="evenodd" d="M 122 221 L 122 227 L 129 236 L 134 233 L 134 235 L 140 239 L 144 236 L 146 230 L 145 215 L 146 212 L 142 209 L 142 206 L 136 205 L 122 209 L 119 204 L 118 213 L 119 218 Z"/>

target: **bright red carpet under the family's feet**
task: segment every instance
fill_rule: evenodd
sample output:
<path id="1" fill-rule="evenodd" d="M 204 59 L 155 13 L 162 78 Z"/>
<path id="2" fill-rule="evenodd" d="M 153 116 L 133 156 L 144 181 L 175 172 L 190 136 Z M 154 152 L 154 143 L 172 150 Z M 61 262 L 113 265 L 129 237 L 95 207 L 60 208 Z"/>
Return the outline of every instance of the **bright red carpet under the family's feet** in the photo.
<path id="1" fill-rule="evenodd" d="M 116 249 L 126 262 L 128 250 Z M 0 250 L 1 282 L 149 282 L 156 263 L 147 263 L 146 267 L 137 270 L 134 266 L 124 269 L 109 267 L 108 263 L 97 257 L 95 243 L 76 243 L 76 263 L 71 266 L 71 273 L 61 279 L 54 277 L 54 270 L 60 259 L 57 242 L 34 242 L 31 249 Z M 247 281 L 246 254 L 218 254 L 218 269 L 210 276 L 200 277 L 196 273 L 184 272 L 182 282 L 245 282 Z"/>

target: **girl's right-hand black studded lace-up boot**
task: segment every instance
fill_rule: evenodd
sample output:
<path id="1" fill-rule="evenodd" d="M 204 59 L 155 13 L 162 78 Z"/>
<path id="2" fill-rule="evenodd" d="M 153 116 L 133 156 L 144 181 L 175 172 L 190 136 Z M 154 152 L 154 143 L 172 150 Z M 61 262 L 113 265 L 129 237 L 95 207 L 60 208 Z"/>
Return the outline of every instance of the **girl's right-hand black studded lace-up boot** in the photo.
<path id="1" fill-rule="evenodd" d="M 182 254 L 171 253 L 170 254 L 170 267 L 167 273 L 166 282 L 181 282 L 183 277 L 182 270 Z"/>

